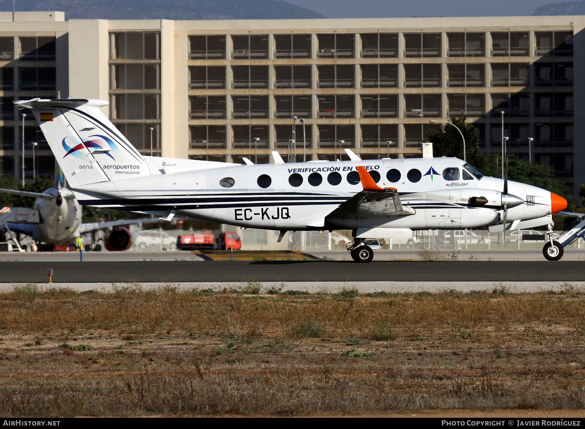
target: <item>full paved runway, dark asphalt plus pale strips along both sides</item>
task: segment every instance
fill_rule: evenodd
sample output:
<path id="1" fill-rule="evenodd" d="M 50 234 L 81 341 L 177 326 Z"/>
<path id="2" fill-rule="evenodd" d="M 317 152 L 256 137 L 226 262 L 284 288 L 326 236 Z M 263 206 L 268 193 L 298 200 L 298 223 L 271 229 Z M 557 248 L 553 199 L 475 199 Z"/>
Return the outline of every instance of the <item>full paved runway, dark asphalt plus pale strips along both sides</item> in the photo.
<path id="1" fill-rule="evenodd" d="M 237 257 L 238 253 L 234 253 Z M 585 286 L 585 252 L 580 249 L 569 249 L 558 262 L 545 260 L 539 250 L 443 253 L 448 260 L 421 261 L 416 250 L 378 251 L 376 259 L 368 264 L 353 262 L 346 252 L 336 251 L 308 255 L 324 260 L 286 260 L 289 256 L 285 260 L 270 260 L 276 253 L 257 252 L 252 258 L 255 260 L 249 260 L 247 255 L 248 260 L 242 261 L 209 260 L 197 252 L 84 252 L 84 262 L 74 252 L 2 253 L 0 289 L 12 289 L 15 284 L 46 284 L 49 268 L 54 272 L 54 286 L 77 290 L 112 290 L 121 283 L 140 283 L 140 287 L 173 284 L 198 289 L 256 283 L 264 290 L 276 285 L 283 290 L 308 291 L 343 287 L 360 291 L 464 291 L 498 287 L 534 291 L 558 290 L 570 284 Z"/>

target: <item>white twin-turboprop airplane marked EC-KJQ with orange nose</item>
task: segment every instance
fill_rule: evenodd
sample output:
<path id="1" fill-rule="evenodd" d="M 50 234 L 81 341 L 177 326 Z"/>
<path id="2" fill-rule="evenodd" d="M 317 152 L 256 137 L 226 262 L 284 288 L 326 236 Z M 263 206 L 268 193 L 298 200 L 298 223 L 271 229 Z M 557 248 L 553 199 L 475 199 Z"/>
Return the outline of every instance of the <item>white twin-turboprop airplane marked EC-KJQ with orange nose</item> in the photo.
<path id="1" fill-rule="evenodd" d="M 433 158 L 246 165 L 141 155 L 95 99 L 16 101 L 40 124 L 80 204 L 280 231 L 352 229 L 352 258 L 370 262 L 362 238 L 411 238 L 413 230 L 550 225 L 543 253 L 562 256 L 552 214 L 564 198 L 483 176 L 463 160 Z"/>

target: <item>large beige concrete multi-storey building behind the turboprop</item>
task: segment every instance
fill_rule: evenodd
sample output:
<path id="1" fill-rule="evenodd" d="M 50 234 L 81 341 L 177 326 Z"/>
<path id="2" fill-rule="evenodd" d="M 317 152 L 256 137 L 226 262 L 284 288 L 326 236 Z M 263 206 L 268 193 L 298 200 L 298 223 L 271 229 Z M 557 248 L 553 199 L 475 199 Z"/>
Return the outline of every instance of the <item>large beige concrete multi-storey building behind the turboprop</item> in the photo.
<path id="1" fill-rule="evenodd" d="M 22 136 L 25 176 L 32 142 L 37 171 L 53 170 L 12 101 L 60 96 L 108 99 L 106 114 L 143 153 L 238 163 L 270 162 L 270 150 L 288 162 L 346 159 L 344 147 L 420 156 L 431 120 L 465 114 L 486 152 L 500 153 L 504 132 L 508 152 L 585 183 L 574 167 L 585 162 L 585 79 L 574 74 L 585 16 L 0 19 L 4 175 L 22 174 Z"/>

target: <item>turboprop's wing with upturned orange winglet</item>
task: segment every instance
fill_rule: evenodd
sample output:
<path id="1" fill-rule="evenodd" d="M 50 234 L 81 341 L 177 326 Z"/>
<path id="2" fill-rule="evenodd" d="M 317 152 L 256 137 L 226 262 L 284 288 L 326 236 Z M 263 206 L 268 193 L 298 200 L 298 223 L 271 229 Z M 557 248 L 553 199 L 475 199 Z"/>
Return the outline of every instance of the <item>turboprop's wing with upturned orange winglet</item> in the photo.
<path id="1" fill-rule="evenodd" d="M 363 191 L 353 195 L 329 213 L 329 219 L 379 219 L 393 215 L 410 215 L 415 211 L 402 207 L 398 191 L 380 188 L 374 183 L 364 167 L 357 167 L 362 180 Z"/>

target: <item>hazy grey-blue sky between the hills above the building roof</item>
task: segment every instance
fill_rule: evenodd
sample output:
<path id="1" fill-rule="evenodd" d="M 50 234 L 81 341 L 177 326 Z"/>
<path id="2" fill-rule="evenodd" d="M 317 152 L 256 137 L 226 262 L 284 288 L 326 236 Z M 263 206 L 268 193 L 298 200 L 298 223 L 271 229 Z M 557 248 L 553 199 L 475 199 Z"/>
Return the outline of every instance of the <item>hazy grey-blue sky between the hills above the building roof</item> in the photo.
<path id="1" fill-rule="evenodd" d="M 538 6 L 567 0 L 286 0 L 328 18 L 409 16 L 529 16 Z"/>

